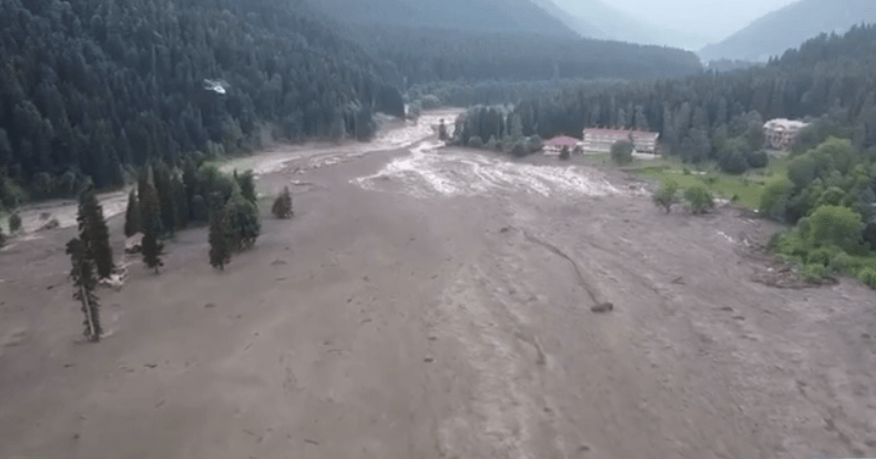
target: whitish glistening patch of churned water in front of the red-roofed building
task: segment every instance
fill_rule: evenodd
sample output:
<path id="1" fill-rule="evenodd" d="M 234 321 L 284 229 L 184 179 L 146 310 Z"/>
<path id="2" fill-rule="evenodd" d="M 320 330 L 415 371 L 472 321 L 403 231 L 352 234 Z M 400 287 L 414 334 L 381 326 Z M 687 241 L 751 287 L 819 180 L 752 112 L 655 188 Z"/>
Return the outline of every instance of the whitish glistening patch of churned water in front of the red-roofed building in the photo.
<path id="1" fill-rule="evenodd" d="M 522 192 L 546 197 L 619 194 L 604 177 L 577 166 L 521 164 L 487 154 L 438 151 L 437 142 L 422 142 L 410 155 L 389 162 L 373 175 L 353 183 L 385 190 L 387 181 L 401 183 L 416 197 L 473 196 L 490 192 Z"/>

